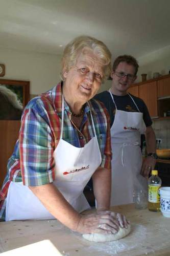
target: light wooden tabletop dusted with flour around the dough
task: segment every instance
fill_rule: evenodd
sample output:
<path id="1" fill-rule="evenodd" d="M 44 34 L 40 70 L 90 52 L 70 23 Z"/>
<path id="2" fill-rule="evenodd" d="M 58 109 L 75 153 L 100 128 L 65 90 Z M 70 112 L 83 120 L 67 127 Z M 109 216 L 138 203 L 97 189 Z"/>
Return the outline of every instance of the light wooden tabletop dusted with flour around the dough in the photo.
<path id="1" fill-rule="evenodd" d="M 131 222 L 131 233 L 121 240 L 88 242 L 57 220 L 0 222 L 0 253 L 48 239 L 67 256 L 170 255 L 169 218 L 161 212 L 135 209 L 133 204 L 112 207 L 112 210 L 125 214 Z"/>

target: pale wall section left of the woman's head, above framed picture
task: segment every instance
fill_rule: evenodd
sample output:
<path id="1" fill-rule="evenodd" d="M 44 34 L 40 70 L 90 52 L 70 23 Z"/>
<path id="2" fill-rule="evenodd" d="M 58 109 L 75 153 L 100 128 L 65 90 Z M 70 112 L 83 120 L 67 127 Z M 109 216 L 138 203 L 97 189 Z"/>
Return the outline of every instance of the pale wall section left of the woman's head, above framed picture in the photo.
<path id="1" fill-rule="evenodd" d="M 5 64 L 3 79 L 30 81 L 30 93 L 51 89 L 60 79 L 61 55 L 0 48 L 0 63 Z"/>

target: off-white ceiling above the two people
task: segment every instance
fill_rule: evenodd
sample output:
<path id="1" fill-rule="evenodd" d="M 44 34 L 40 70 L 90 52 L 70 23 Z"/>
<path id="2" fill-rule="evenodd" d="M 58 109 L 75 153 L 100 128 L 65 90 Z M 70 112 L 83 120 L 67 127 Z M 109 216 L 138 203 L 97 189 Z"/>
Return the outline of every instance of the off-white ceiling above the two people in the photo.
<path id="1" fill-rule="evenodd" d="M 169 13 L 169 0 L 0 0 L 0 47 L 62 54 L 90 35 L 138 58 L 170 45 Z"/>

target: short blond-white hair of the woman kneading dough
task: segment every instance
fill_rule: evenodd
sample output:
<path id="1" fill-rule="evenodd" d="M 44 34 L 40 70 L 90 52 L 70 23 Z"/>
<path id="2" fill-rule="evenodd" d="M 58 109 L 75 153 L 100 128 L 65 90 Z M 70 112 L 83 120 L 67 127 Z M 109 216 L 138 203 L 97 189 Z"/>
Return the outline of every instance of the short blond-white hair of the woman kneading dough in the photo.
<path id="1" fill-rule="evenodd" d="M 61 63 L 61 78 L 64 81 L 64 71 L 76 65 L 78 55 L 84 50 L 89 49 L 100 58 L 104 67 L 104 78 L 110 76 L 111 73 L 111 53 L 104 42 L 91 37 L 79 36 L 66 45 Z"/>

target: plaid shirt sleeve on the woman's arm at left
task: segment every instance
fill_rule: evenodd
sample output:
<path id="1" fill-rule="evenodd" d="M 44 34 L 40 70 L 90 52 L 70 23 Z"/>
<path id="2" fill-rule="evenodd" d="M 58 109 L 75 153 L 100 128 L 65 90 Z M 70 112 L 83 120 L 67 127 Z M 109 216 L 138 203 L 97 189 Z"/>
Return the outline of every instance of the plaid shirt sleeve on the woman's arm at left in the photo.
<path id="1" fill-rule="evenodd" d="M 43 106 L 26 108 L 19 132 L 22 182 L 27 186 L 52 183 L 55 179 L 54 137 Z"/>

